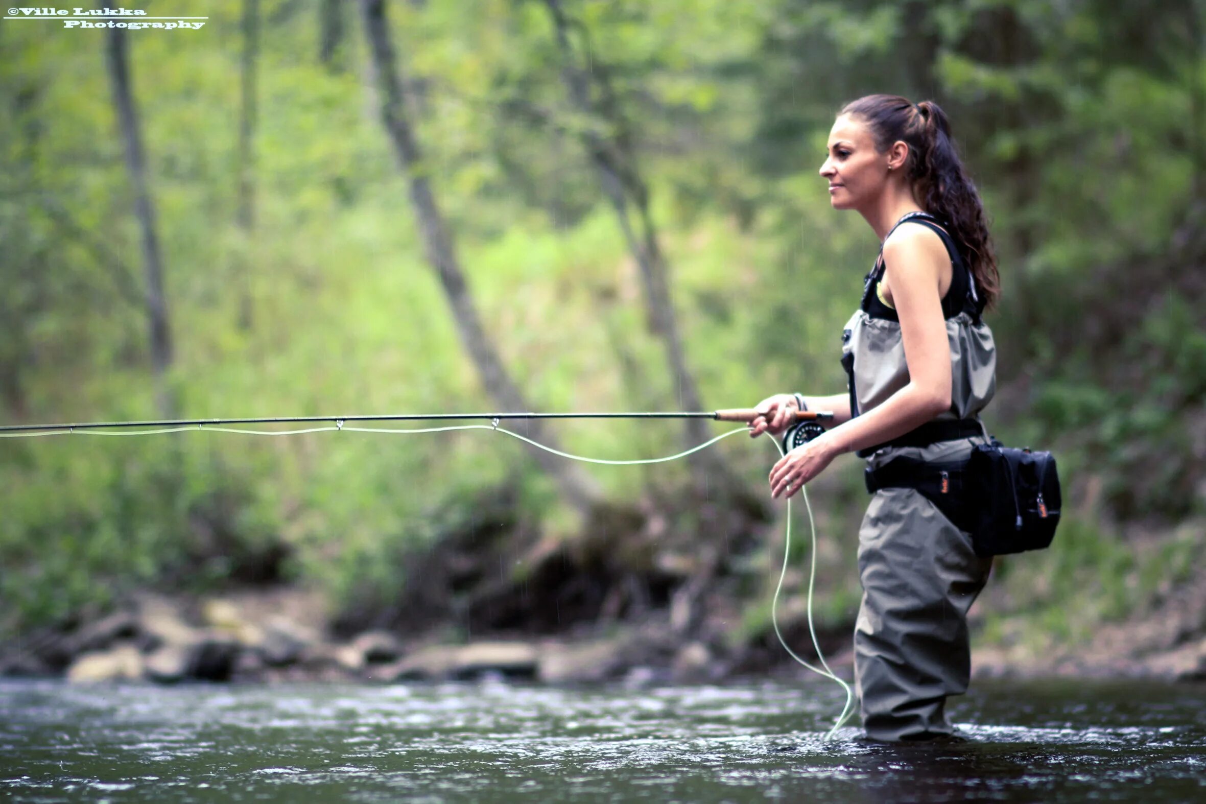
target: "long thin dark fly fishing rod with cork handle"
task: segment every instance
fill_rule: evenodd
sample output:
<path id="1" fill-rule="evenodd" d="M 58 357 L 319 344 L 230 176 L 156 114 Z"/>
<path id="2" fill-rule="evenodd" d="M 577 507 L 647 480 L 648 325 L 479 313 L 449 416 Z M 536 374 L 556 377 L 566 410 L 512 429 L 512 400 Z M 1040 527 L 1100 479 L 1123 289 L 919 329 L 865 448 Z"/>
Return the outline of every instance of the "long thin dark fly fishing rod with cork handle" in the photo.
<path id="1" fill-rule="evenodd" d="M 718 422 L 753 422 L 759 411 L 753 407 L 732 407 L 712 412 L 622 412 L 622 413 L 387 413 L 381 416 L 265 416 L 247 418 L 178 418 L 144 422 L 68 422 L 65 424 L 4 424 L 0 433 L 21 433 L 34 430 L 101 430 L 122 427 L 204 427 L 206 424 L 295 424 L 314 422 L 334 422 L 343 429 L 346 422 L 426 422 L 426 421 L 463 421 L 486 419 L 502 422 L 507 419 L 529 418 L 710 418 Z M 832 419 L 832 411 L 794 411 L 796 422 Z"/>

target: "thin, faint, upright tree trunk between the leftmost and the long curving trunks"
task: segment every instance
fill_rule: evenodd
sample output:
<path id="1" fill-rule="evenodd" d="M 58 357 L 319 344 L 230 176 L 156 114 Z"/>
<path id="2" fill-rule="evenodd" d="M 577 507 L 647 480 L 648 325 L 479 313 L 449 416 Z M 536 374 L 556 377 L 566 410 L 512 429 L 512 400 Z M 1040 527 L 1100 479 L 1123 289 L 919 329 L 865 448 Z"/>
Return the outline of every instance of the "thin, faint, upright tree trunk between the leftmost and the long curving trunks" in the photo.
<path id="1" fill-rule="evenodd" d="M 259 55 L 259 0 L 242 1 L 242 105 L 239 113 L 239 212 L 238 224 L 242 234 L 242 259 L 239 265 L 239 328 L 250 330 L 254 318 L 252 309 L 251 271 L 256 269 L 256 123 L 257 90 L 256 69 Z"/>

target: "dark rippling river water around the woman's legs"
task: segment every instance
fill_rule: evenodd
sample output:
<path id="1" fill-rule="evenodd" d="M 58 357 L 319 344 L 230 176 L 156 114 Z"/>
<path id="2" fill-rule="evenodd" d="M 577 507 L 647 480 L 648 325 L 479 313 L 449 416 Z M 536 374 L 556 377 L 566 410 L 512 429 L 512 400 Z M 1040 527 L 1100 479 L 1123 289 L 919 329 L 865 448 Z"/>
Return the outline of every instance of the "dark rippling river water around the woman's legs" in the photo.
<path id="1" fill-rule="evenodd" d="M 987 682 L 971 740 L 822 736 L 824 682 L 628 689 L 0 682 L 14 802 L 1206 802 L 1206 688 Z"/>

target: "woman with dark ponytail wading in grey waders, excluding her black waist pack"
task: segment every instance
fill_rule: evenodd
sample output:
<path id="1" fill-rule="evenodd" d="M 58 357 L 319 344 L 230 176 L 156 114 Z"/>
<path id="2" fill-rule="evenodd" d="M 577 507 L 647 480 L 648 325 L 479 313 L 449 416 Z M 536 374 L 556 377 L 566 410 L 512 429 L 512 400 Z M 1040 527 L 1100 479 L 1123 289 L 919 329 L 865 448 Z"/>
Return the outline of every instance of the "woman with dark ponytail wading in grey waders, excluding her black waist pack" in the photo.
<path id="1" fill-rule="evenodd" d="M 996 352 L 980 316 L 999 294 L 996 260 L 979 195 L 932 101 L 847 104 L 820 175 L 833 209 L 857 211 L 882 242 L 842 334 L 848 393 L 769 397 L 750 434 L 784 433 L 797 410 L 833 411 L 824 433 L 775 463 L 775 498 L 839 454 L 867 459 L 873 497 L 859 529 L 854 634 L 863 728 L 872 740 L 949 738 L 946 702 L 967 689 L 967 610 L 991 558 L 977 556 L 906 468 L 964 460 L 988 441 L 978 415 L 996 389 Z M 937 493 L 947 491 L 943 482 Z"/>

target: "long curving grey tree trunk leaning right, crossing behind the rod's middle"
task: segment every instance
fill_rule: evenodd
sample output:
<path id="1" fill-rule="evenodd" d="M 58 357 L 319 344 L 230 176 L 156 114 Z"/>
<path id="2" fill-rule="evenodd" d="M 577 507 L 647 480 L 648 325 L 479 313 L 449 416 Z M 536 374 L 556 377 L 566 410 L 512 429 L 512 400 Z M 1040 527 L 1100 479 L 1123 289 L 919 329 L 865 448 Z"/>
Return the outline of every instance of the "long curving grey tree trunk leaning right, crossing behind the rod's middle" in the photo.
<path id="1" fill-rule="evenodd" d="M 486 392 L 504 411 L 528 411 L 531 405 L 507 374 L 498 352 L 491 345 L 482 328 L 478 310 L 473 304 L 464 272 L 456 256 L 455 243 L 443 213 L 437 206 L 431 183 L 422 166 L 422 154 L 410 124 L 403 98 L 397 58 L 385 18 L 384 0 L 362 0 L 364 31 L 374 65 L 376 87 L 380 93 L 381 122 L 393 146 L 398 165 L 410 184 L 410 199 L 418 218 L 418 233 L 423 239 L 427 260 L 435 270 L 456 322 L 461 342 L 478 366 Z M 555 445 L 551 433 L 545 432 L 540 421 L 533 419 L 528 430 L 533 440 Z M 540 466 L 556 479 L 566 499 L 584 515 L 590 513 L 599 500 L 599 493 L 591 479 L 563 458 L 544 450 L 535 452 Z"/>

